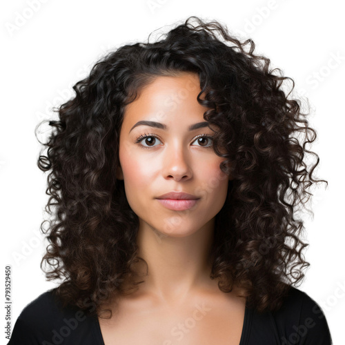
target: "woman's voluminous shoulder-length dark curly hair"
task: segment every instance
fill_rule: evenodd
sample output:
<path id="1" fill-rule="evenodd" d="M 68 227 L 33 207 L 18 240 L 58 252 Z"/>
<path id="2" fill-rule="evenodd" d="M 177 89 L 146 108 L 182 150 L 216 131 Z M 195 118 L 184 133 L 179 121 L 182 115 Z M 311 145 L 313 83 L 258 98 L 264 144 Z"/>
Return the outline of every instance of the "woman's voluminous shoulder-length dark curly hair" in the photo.
<path id="1" fill-rule="evenodd" d="M 63 279 L 56 293 L 64 305 L 100 315 L 103 302 L 144 282 L 134 269 L 147 264 L 135 241 L 139 219 L 124 181 L 115 177 L 119 132 L 141 88 L 181 72 L 199 76 L 197 101 L 207 108 L 204 119 L 219 128 L 213 141 L 224 157 L 220 168 L 233 176 L 215 219 L 210 278 L 224 293 L 241 286 L 258 312 L 279 309 L 290 286 L 304 278 L 308 244 L 301 236 L 304 222 L 295 217 L 313 195 L 307 189 L 324 181 L 312 177 L 319 157 L 306 148 L 316 132 L 301 100 L 289 97 L 293 79 L 254 50 L 251 39 L 231 36 L 218 21 L 189 17 L 159 41 L 108 53 L 75 83 L 75 96 L 55 109 L 59 120 L 49 122 L 52 131 L 41 143 L 47 152 L 37 162 L 50 171 L 46 212 L 52 216 L 47 229 L 48 220 L 41 224 L 50 243 L 41 268 L 46 262 L 46 278 Z M 293 82 L 290 92 L 283 90 L 286 79 Z M 306 154 L 317 157 L 310 167 Z"/>

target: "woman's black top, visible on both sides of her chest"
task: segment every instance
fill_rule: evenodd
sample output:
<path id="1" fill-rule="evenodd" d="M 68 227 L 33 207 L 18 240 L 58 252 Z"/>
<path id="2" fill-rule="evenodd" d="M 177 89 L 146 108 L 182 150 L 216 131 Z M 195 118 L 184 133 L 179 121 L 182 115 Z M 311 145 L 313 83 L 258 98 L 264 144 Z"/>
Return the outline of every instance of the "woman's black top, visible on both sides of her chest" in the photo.
<path id="1" fill-rule="evenodd" d="M 8 345 L 104 345 L 97 317 L 59 308 L 52 290 L 23 309 Z M 273 313 L 258 314 L 246 306 L 239 345 L 296 344 L 333 344 L 322 309 L 306 293 L 291 287 L 282 308 Z"/>

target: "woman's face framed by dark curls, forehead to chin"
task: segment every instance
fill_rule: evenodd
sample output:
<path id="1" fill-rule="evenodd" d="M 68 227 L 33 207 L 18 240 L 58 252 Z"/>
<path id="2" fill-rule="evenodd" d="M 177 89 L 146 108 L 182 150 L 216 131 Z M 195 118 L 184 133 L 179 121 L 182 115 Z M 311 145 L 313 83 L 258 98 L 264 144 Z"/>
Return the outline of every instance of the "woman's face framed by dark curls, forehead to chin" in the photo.
<path id="1" fill-rule="evenodd" d="M 210 226 L 226 200 L 229 177 L 219 168 L 224 158 L 215 154 L 207 137 L 213 131 L 207 126 L 190 130 L 206 122 L 199 92 L 193 73 L 157 77 L 128 105 L 121 126 L 117 178 L 124 179 L 139 226 L 161 235 L 184 237 Z M 189 193 L 197 200 L 157 199 L 169 192 Z"/>

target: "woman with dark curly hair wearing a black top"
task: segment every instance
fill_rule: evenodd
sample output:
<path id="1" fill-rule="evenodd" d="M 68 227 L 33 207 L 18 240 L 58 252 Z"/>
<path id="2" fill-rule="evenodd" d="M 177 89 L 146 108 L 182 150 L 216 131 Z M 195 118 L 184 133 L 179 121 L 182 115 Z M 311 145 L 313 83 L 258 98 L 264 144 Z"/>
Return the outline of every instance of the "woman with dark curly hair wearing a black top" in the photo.
<path id="1" fill-rule="evenodd" d="M 190 17 L 76 83 L 38 161 L 55 215 L 41 264 L 63 282 L 8 344 L 332 344 L 293 286 L 316 132 L 254 48 Z"/>

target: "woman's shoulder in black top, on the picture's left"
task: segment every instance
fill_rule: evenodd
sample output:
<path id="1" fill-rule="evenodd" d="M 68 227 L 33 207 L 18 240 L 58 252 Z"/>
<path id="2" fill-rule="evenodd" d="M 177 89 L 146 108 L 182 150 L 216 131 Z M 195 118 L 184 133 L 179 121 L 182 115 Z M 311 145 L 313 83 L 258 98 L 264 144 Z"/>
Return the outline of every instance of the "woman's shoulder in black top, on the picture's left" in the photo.
<path id="1" fill-rule="evenodd" d="M 23 308 L 8 345 L 75 344 L 81 334 L 90 337 L 92 318 L 72 306 L 63 308 L 55 290 L 42 293 Z"/>

